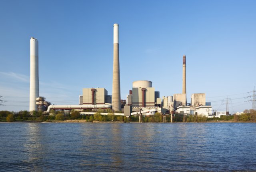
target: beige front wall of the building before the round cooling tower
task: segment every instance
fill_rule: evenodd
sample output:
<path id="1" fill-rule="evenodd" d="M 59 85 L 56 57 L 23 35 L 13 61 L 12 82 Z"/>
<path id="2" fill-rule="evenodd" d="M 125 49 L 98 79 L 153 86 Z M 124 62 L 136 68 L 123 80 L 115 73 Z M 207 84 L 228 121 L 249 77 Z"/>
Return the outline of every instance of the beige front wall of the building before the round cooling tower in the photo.
<path id="1" fill-rule="evenodd" d="M 142 88 L 132 88 L 132 106 L 142 106 Z M 145 106 L 155 106 L 155 88 L 145 90 Z"/>

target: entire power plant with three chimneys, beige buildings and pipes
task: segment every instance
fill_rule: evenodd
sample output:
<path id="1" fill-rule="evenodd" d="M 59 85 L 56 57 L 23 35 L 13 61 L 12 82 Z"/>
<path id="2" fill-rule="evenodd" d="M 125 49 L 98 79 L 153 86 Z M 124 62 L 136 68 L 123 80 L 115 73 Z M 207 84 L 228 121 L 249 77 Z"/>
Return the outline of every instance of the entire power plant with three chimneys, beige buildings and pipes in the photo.
<path id="1" fill-rule="evenodd" d="M 206 102 L 205 93 L 191 95 L 191 103 L 187 103 L 186 97 L 186 56 L 182 65 L 182 93 L 160 98 L 160 92 L 152 87 L 152 81 L 138 80 L 132 82 L 131 90 L 126 100 L 121 100 L 120 95 L 120 66 L 119 66 L 119 25 L 114 24 L 113 32 L 113 82 L 112 95 L 105 88 L 83 88 L 77 105 L 51 105 L 45 98 L 39 97 L 38 81 L 38 40 L 30 39 L 30 111 L 46 110 L 71 110 L 80 111 L 80 114 L 94 114 L 98 109 L 112 108 L 116 115 L 130 116 L 140 114 L 140 122 L 143 115 L 152 115 L 155 112 L 162 114 L 202 114 L 211 116 L 212 107 Z M 38 102 L 36 102 L 38 100 Z M 122 106 L 121 106 L 122 102 Z M 39 108 L 37 108 L 39 105 Z M 91 112 L 83 112 L 84 109 L 92 109 Z M 120 113 L 121 112 L 121 113 Z M 104 114 L 104 113 L 103 113 Z M 107 113 L 106 113 L 107 114 Z"/>

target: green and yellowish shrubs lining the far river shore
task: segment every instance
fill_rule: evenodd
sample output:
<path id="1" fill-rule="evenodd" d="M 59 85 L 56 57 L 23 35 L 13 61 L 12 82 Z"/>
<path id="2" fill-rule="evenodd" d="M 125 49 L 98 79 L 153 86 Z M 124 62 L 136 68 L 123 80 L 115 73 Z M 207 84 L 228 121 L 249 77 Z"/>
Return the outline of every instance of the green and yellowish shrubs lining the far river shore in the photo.
<path id="1" fill-rule="evenodd" d="M 108 115 L 101 115 L 107 112 Z M 143 116 L 143 122 L 162 122 L 162 114 L 155 113 L 152 116 Z M 206 116 L 175 114 L 174 122 L 256 122 L 256 110 L 244 110 L 241 115 L 220 116 L 220 118 L 207 118 Z M 138 122 L 139 116 L 115 116 L 111 109 L 98 110 L 94 115 L 80 115 L 78 111 L 72 110 L 70 114 L 63 111 L 51 110 L 50 114 L 41 111 L 20 112 L 0 111 L 0 122 Z M 170 122 L 170 115 L 166 115 L 166 122 Z"/>

